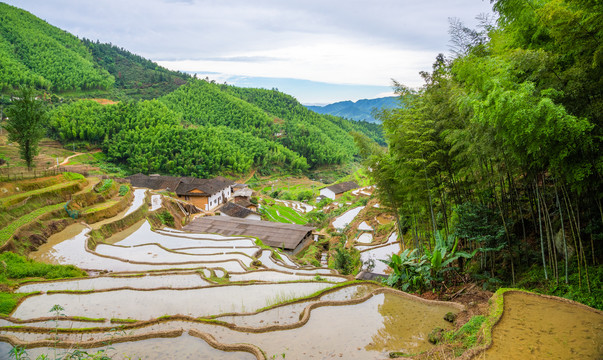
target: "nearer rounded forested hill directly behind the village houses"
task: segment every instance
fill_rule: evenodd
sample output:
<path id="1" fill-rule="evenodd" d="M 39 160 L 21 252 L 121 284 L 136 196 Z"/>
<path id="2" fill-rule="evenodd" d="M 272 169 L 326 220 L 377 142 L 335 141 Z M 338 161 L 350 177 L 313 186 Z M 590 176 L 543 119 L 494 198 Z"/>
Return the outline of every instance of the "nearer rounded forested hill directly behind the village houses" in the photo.
<path id="1" fill-rule="evenodd" d="M 107 158 L 132 172 L 208 177 L 261 171 L 298 173 L 304 158 L 273 141 L 225 126 L 184 128 L 181 115 L 158 100 L 99 105 L 77 101 L 50 116 L 51 135 L 63 142 L 102 146 Z"/>

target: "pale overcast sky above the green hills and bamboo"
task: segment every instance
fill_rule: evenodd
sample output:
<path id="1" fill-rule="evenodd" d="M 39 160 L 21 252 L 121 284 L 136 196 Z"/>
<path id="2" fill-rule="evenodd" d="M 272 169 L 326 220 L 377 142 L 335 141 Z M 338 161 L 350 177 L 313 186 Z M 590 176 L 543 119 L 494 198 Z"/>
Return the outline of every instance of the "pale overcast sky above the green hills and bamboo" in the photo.
<path id="1" fill-rule="evenodd" d="M 448 52 L 448 18 L 482 0 L 8 0 L 74 35 L 173 70 L 279 88 L 303 103 L 375 98 Z"/>

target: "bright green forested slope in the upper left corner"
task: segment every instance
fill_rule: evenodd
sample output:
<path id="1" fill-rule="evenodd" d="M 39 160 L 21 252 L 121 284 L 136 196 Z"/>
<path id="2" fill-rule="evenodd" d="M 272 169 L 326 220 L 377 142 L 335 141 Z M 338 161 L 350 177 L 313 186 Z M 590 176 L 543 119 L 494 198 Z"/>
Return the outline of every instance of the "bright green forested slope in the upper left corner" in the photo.
<path id="1" fill-rule="evenodd" d="M 52 91 L 108 89 L 113 83 L 78 38 L 0 3 L 1 90 L 19 85 Z"/>

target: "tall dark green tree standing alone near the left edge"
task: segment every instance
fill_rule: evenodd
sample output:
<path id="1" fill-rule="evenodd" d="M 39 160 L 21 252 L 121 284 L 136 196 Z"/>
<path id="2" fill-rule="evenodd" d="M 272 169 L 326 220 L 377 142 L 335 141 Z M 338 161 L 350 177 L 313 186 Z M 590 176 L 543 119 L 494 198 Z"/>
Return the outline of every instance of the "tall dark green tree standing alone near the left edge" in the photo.
<path id="1" fill-rule="evenodd" d="M 41 101 L 36 99 L 33 88 L 21 87 L 19 96 L 7 111 L 6 131 L 8 141 L 19 144 L 21 159 L 31 170 L 33 159 L 38 155 L 38 142 L 45 133 L 46 111 Z"/>

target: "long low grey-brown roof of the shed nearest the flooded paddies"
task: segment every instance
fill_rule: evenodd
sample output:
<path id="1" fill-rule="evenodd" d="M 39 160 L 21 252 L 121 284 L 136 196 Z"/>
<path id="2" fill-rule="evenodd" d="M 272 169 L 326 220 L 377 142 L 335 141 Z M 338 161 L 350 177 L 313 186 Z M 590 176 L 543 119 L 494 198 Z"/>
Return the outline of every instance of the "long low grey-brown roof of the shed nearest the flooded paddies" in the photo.
<path id="1" fill-rule="evenodd" d="M 183 229 L 226 236 L 253 236 L 262 240 L 266 245 L 283 247 L 287 250 L 295 249 L 314 230 L 309 226 L 225 216 L 196 218 Z"/>

